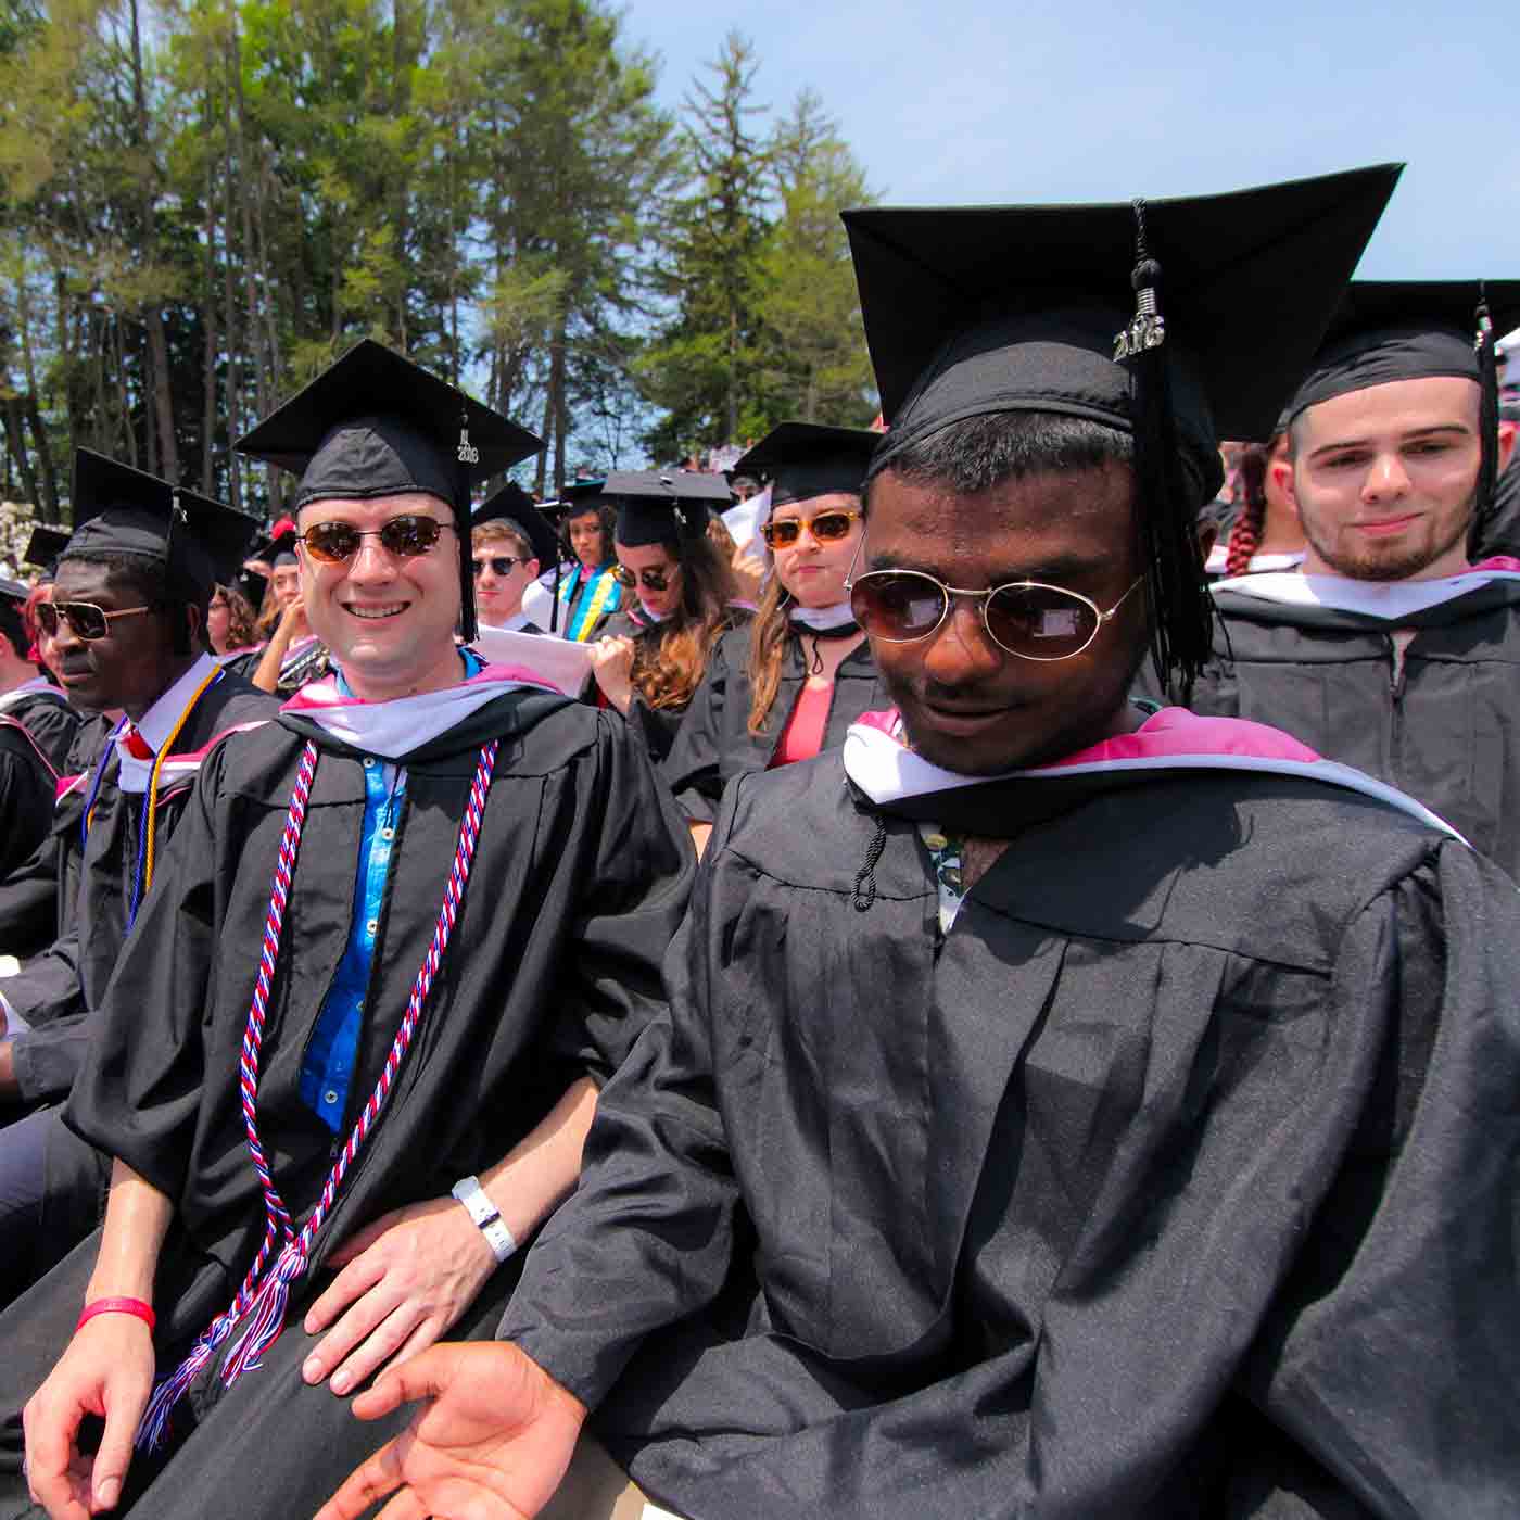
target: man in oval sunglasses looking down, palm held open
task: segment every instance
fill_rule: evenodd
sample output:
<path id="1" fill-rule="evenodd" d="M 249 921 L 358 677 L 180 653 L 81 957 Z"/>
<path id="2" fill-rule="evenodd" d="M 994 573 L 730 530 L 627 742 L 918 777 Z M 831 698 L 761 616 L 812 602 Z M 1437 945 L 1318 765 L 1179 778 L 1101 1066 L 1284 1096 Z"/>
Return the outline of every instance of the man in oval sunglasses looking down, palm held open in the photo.
<path id="1" fill-rule="evenodd" d="M 1126 698 L 1207 654 L 1208 401 L 1275 415 L 1392 179 L 847 217 L 901 707 L 730 789 L 512 1344 L 356 1403 L 430 1400 L 321 1520 L 532 1514 L 590 1406 L 693 1520 L 1512 1509 L 1514 889 Z"/>

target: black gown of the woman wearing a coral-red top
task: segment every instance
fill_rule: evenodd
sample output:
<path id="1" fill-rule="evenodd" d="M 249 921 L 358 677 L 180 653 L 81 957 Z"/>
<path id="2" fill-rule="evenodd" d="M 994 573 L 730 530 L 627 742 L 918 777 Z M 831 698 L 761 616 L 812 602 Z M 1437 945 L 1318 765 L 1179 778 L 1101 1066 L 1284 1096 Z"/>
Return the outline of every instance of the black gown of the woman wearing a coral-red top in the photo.
<path id="1" fill-rule="evenodd" d="M 717 816 L 724 787 L 736 775 L 763 771 L 775 754 L 786 720 L 803 687 L 807 663 L 795 634 L 786 641 L 781 681 L 766 714 L 765 730 L 749 733 L 749 626 L 724 634 L 713 649 L 707 675 L 692 698 L 675 743 L 660 768 L 681 810 L 692 822 Z M 834 672 L 834 692 L 824 728 L 824 748 L 838 749 L 850 725 L 862 714 L 891 707 L 886 687 L 871 660 L 871 646 L 853 649 Z"/>

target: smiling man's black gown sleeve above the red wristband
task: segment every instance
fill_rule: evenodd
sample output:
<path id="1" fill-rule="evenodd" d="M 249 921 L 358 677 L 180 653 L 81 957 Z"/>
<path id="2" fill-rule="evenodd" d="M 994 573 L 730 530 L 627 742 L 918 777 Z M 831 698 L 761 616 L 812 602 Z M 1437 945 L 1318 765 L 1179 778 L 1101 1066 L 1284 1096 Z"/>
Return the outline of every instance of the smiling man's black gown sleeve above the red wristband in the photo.
<path id="1" fill-rule="evenodd" d="M 119 1157 L 169 1198 L 185 1164 L 205 1082 L 202 1020 L 216 948 L 220 859 L 214 809 L 217 749 L 202 765 L 184 812 L 96 1011 L 64 1122 Z M 249 947 L 249 955 L 257 945 Z"/>

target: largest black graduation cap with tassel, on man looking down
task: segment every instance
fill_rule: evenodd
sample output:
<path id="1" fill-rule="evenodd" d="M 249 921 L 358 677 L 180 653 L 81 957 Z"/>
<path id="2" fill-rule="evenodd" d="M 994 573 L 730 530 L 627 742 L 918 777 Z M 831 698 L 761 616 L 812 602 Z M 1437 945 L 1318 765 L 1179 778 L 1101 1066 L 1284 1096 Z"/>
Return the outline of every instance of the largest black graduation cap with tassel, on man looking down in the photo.
<path id="1" fill-rule="evenodd" d="M 991 413 L 1132 435 L 1152 654 L 1186 687 L 1211 641 L 1193 523 L 1222 482 L 1218 439 L 1265 436 L 1400 172 L 1131 204 L 845 211 L 889 423 L 871 473 Z"/>

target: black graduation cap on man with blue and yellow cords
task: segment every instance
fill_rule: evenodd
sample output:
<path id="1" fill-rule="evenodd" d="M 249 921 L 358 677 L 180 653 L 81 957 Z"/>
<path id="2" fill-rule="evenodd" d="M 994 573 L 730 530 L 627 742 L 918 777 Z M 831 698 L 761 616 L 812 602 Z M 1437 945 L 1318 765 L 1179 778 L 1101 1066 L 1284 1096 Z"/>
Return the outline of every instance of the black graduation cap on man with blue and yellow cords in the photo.
<path id="1" fill-rule="evenodd" d="M 205 602 L 236 573 L 258 521 L 210 497 L 134 470 L 93 448 L 74 450 L 74 530 L 61 562 L 144 559 L 164 568 L 169 596 Z"/>

